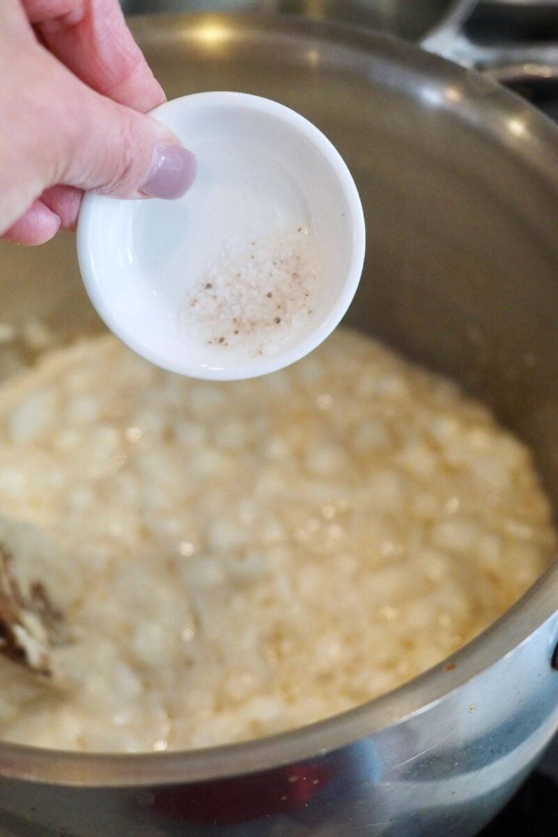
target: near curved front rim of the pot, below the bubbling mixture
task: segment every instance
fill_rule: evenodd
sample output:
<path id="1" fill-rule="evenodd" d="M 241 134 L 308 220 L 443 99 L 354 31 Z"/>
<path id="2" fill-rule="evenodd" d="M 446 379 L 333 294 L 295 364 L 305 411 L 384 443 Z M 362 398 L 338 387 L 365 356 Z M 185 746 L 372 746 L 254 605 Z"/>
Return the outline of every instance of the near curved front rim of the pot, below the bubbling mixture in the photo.
<path id="1" fill-rule="evenodd" d="M 0 742 L 0 777 L 70 787 L 155 788 L 304 763 L 422 714 L 482 676 L 554 616 L 555 638 L 540 660 L 541 666 L 552 665 L 558 643 L 557 601 L 555 561 L 518 602 L 456 654 L 394 691 L 306 727 L 248 742 L 172 752 L 86 753 Z"/>

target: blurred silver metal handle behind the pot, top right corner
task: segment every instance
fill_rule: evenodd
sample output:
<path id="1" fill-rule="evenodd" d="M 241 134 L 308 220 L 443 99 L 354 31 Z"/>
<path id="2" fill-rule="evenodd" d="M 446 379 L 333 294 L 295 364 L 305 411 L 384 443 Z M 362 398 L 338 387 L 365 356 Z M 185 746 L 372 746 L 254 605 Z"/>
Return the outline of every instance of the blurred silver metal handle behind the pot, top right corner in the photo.
<path id="1" fill-rule="evenodd" d="M 491 3 L 509 6 L 510 0 Z M 487 46 L 469 39 L 464 25 L 478 5 L 479 0 L 453 3 L 443 20 L 422 39 L 422 48 L 463 67 L 478 69 L 503 84 L 558 80 L 558 44 Z M 525 6 L 529 5 L 529 0 L 525 0 Z"/>

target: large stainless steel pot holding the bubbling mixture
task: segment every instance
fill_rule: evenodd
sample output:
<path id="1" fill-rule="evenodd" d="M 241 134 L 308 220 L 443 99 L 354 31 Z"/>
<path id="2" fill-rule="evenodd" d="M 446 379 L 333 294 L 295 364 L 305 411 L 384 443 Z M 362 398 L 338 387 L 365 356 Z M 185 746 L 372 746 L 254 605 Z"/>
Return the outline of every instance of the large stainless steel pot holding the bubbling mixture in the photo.
<path id="1" fill-rule="evenodd" d="M 168 95 L 269 95 L 330 136 L 369 235 L 349 320 L 484 398 L 532 445 L 558 507 L 555 126 L 492 81 L 371 33 L 218 16 L 134 28 Z M 33 311 L 61 339 L 100 330 L 71 236 L 3 245 L 0 270 L 3 319 Z M 558 726 L 557 607 L 558 564 L 453 660 L 268 740 L 129 757 L 0 746 L 0 834 L 468 837 Z"/>

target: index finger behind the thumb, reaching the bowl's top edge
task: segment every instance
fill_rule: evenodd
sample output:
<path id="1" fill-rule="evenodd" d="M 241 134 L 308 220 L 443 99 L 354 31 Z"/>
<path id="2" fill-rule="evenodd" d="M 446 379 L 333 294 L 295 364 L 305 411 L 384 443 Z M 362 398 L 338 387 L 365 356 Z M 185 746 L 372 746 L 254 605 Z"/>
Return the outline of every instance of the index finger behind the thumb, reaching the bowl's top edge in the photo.
<path id="1" fill-rule="evenodd" d="M 146 112 L 165 101 L 118 0 L 23 0 L 44 44 L 86 85 Z"/>

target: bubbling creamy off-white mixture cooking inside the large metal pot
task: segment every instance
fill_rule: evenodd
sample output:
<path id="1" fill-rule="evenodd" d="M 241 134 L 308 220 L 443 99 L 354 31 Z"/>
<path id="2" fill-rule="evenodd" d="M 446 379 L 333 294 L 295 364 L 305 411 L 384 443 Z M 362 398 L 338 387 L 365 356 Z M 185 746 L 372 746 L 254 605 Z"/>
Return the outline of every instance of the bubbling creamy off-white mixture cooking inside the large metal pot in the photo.
<path id="1" fill-rule="evenodd" d="M 0 509 L 52 542 L 74 634 L 62 686 L 0 660 L 2 735 L 89 751 L 206 747 L 367 701 L 478 634 L 555 550 L 524 445 L 342 330 L 233 384 L 110 336 L 51 352 L 0 390 Z"/>

